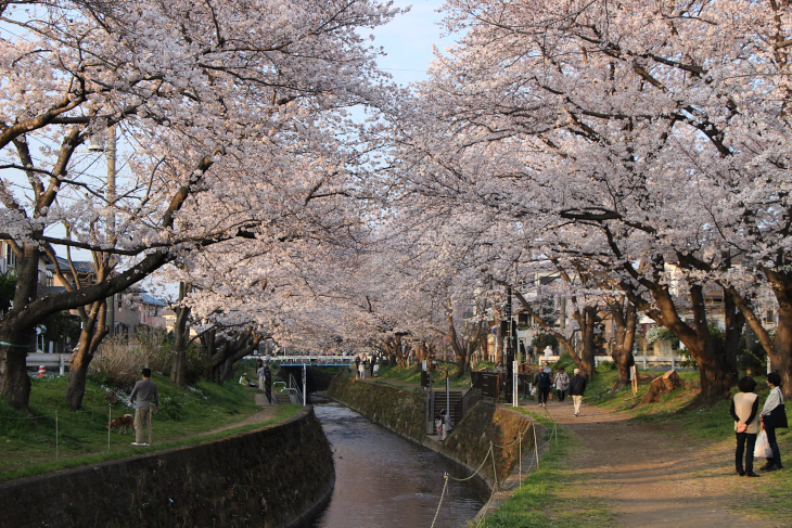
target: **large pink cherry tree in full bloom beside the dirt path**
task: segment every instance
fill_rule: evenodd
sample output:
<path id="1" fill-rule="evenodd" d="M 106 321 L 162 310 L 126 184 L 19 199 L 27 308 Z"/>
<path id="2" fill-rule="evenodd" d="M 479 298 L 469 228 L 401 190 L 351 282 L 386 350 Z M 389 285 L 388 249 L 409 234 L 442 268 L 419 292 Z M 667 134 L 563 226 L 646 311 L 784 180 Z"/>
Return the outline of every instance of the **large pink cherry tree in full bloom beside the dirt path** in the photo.
<path id="1" fill-rule="evenodd" d="M 405 117 L 410 188 L 460 211 L 476 204 L 547 256 L 589 260 L 691 351 L 700 402 L 724 396 L 741 324 L 713 340 L 704 287 L 734 258 L 782 284 L 788 261 L 789 5 L 446 9 L 464 37 Z"/>

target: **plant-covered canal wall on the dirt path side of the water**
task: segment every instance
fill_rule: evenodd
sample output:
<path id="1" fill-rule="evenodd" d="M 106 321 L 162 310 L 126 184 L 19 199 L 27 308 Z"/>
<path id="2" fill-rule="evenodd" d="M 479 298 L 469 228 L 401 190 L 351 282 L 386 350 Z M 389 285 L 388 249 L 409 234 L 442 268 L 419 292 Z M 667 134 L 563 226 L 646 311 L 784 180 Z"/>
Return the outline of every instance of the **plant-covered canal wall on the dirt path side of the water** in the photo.
<path id="1" fill-rule="evenodd" d="M 421 443 L 475 471 L 494 446 L 498 482 L 501 482 L 523 456 L 534 449 L 533 425 L 527 416 L 501 405 L 478 402 L 455 427 L 444 442 L 426 436 L 424 409 L 426 395 L 393 386 L 336 376 L 328 396 L 363 414 L 372 422 Z M 514 440 L 521 436 L 522 441 Z M 520 446 L 522 443 L 522 447 Z M 491 487 L 491 461 L 482 468 Z"/>

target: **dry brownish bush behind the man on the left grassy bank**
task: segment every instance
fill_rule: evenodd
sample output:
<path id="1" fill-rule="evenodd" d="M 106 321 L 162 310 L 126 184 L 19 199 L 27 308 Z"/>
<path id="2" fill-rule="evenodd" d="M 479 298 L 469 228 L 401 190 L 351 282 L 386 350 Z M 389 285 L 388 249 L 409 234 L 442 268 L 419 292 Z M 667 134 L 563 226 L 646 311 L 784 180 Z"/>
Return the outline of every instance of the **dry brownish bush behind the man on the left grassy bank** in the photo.
<path id="1" fill-rule="evenodd" d="M 103 375 L 117 387 L 135 384 L 140 371 L 148 366 L 154 372 L 170 370 L 170 349 L 164 330 L 142 330 L 128 340 L 123 336 L 105 339 L 89 366 L 89 372 Z"/>

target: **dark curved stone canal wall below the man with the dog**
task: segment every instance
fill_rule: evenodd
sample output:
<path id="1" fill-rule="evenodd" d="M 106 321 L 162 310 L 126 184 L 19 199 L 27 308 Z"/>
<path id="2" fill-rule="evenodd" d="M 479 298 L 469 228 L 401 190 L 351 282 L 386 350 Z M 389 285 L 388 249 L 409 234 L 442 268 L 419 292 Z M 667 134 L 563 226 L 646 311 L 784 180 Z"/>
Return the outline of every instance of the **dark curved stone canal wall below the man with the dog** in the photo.
<path id="1" fill-rule="evenodd" d="M 335 471 L 306 409 L 259 430 L 0 485 L 0 527 L 281 527 L 320 506 Z"/>

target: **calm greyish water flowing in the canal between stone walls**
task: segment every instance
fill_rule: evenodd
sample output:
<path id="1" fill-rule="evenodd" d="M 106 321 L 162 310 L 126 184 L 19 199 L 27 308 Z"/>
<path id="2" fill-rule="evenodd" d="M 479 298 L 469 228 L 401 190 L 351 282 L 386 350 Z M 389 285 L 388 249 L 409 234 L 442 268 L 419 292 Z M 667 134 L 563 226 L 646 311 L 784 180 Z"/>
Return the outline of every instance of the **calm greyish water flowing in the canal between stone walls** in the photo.
<path id="1" fill-rule="evenodd" d="M 335 489 L 304 528 L 430 528 L 444 473 L 470 472 L 337 403 L 315 407 L 335 458 Z M 436 527 L 463 527 L 489 497 L 477 478 L 449 480 Z"/>

